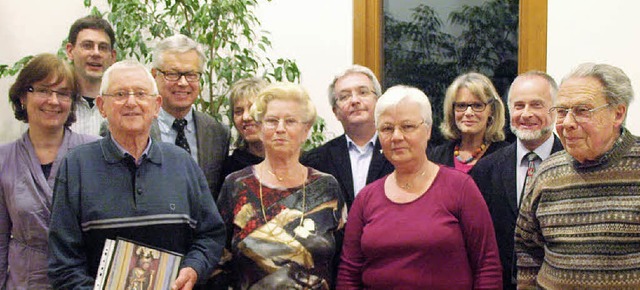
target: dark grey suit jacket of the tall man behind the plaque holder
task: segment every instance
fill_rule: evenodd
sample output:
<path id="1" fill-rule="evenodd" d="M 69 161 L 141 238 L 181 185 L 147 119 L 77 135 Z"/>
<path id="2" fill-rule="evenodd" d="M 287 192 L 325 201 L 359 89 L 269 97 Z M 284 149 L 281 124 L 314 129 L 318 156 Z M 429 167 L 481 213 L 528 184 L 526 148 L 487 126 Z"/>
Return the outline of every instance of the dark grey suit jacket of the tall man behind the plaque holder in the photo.
<path id="1" fill-rule="evenodd" d="M 209 183 L 213 200 L 218 199 L 222 185 L 222 164 L 229 154 L 229 128 L 206 113 L 193 111 L 198 140 L 198 165 Z M 162 140 L 158 120 L 151 125 L 151 138 Z M 193 146 L 192 144 L 189 144 Z"/>

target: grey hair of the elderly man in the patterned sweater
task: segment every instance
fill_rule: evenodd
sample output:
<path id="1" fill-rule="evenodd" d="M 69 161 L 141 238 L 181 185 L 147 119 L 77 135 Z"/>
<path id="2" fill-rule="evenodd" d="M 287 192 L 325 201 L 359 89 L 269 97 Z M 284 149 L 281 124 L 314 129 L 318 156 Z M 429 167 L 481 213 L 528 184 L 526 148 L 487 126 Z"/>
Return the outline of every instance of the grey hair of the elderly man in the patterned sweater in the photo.
<path id="1" fill-rule="evenodd" d="M 603 93 L 610 104 L 624 104 L 629 107 L 633 101 L 633 88 L 629 77 L 622 69 L 596 63 L 583 63 L 562 79 L 562 83 L 571 78 L 592 77 L 600 81 L 604 87 Z M 561 84 L 562 84 L 561 83 Z M 626 119 L 626 116 L 625 116 Z"/>

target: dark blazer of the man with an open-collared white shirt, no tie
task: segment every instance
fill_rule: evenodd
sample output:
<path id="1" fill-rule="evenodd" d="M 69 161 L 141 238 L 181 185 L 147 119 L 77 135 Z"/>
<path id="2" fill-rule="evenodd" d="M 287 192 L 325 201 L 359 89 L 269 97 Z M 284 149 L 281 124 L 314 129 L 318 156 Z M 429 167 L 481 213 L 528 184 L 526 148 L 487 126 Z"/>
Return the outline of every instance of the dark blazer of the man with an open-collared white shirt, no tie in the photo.
<path id="1" fill-rule="evenodd" d="M 380 140 L 376 140 L 373 156 L 367 173 L 367 184 L 393 171 L 393 165 L 380 152 Z M 343 134 L 324 145 L 304 153 L 300 162 L 306 166 L 333 175 L 342 188 L 347 208 L 353 203 L 353 175 L 347 148 L 347 137 Z"/>

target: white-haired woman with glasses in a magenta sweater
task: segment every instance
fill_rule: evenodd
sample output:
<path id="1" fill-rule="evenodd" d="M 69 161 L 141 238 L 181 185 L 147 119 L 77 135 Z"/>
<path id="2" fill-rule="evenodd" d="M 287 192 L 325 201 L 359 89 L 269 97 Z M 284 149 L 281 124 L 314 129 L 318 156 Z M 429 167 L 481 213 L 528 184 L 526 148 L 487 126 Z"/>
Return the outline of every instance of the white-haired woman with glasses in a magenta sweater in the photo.
<path id="1" fill-rule="evenodd" d="M 395 170 L 364 187 L 349 211 L 337 289 L 500 289 L 489 210 L 468 175 L 426 154 L 431 104 L 395 86 L 375 108 Z"/>

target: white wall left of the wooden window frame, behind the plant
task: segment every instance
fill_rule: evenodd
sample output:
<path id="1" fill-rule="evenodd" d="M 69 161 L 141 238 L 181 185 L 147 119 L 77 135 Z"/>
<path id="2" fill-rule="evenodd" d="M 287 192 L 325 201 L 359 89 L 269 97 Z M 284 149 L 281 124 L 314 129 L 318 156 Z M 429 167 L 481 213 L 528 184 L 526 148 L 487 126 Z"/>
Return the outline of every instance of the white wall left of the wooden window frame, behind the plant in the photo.
<path id="1" fill-rule="evenodd" d="M 94 3 L 104 3 L 104 0 Z M 89 13 L 82 0 L 0 0 L 0 63 L 57 52 L 71 24 Z M 335 72 L 353 63 L 353 3 L 344 0 L 261 1 L 256 14 L 261 30 L 271 32 L 272 59 L 296 60 L 302 84 L 309 90 L 330 136 L 341 134 L 327 101 L 326 88 Z M 15 78 L 0 79 L 0 144 L 20 136 L 25 126 L 13 117 L 8 102 Z"/>

